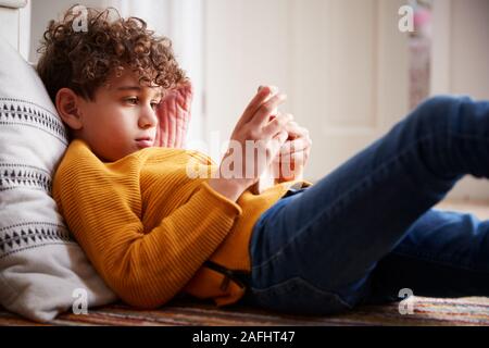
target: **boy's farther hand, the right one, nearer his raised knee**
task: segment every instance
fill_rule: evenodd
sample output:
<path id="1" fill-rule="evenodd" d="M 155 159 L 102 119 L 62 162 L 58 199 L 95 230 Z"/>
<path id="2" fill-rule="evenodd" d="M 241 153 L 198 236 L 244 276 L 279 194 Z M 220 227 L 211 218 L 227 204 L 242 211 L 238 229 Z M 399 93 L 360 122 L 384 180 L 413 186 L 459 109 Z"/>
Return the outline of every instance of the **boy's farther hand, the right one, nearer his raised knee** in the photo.
<path id="1" fill-rule="evenodd" d="M 289 137 L 272 164 L 276 183 L 302 179 L 311 153 L 312 140 L 306 128 L 296 122 L 289 122 L 286 130 Z"/>

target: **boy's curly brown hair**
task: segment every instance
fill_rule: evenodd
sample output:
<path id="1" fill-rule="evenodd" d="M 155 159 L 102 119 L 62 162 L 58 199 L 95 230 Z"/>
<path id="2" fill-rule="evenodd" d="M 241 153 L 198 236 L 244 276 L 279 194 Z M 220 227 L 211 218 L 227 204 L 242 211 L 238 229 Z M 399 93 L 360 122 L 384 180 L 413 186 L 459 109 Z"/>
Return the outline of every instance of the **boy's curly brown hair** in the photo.
<path id="1" fill-rule="evenodd" d="M 79 22 L 77 7 L 71 7 L 60 22 L 49 22 L 38 49 L 37 72 L 54 103 L 63 87 L 93 100 L 97 88 L 111 74 L 120 76 L 125 66 L 139 74 L 141 85 L 164 90 L 187 79 L 175 60 L 172 41 L 155 36 L 143 20 L 123 18 L 113 8 L 86 8 L 87 30 L 79 30 L 74 25 Z"/>

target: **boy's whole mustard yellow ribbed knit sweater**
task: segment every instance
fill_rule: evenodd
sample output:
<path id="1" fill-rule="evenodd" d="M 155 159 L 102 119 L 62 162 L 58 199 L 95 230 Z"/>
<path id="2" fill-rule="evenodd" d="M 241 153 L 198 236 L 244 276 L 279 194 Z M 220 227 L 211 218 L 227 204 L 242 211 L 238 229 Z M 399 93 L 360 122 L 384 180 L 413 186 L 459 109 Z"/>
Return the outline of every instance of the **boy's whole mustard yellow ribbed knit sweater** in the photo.
<path id="1" fill-rule="evenodd" d="M 156 308 L 179 293 L 237 301 L 244 288 L 208 268 L 250 270 L 249 241 L 260 215 L 296 182 L 237 202 L 191 178 L 189 161 L 217 166 L 197 151 L 148 148 L 100 161 L 82 140 L 70 145 L 53 182 L 61 213 L 106 284 L 127 303 Z"/>

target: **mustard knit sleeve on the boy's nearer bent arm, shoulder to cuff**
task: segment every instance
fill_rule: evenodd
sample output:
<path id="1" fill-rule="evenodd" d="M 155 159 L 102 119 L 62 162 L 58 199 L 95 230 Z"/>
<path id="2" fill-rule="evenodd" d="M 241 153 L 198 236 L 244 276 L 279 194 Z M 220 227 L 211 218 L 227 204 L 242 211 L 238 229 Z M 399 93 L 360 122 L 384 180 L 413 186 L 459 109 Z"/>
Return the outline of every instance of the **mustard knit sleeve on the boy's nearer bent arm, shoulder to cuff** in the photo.
<path id="1" fill-rule="evenodd" d="M 238 204 L 203 182 L 185 204 L 145 233 L 135 209 L 141 206 L 139 185 L 124 183 L 130 175 L 108 178 L 83 161 L 76 166 L 60 166 L 54 199 L 97 271 L 135 307 L 155 308 L 171 300 L 241 214 Z"/>

